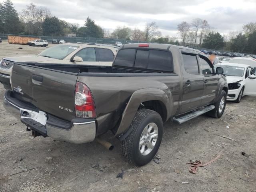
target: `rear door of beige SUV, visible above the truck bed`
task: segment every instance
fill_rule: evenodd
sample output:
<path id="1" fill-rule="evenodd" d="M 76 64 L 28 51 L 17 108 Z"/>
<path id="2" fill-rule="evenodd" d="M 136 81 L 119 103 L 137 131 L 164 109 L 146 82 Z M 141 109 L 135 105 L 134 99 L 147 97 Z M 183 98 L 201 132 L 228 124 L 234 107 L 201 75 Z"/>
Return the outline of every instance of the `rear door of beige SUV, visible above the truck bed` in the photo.
<path id="1" fill-rule="evenodd" d="M 95 48 L 97 60 L 102 66 L 112 66 L 114 60 L 114 54 L 112 50 L 108 48 Z"/>

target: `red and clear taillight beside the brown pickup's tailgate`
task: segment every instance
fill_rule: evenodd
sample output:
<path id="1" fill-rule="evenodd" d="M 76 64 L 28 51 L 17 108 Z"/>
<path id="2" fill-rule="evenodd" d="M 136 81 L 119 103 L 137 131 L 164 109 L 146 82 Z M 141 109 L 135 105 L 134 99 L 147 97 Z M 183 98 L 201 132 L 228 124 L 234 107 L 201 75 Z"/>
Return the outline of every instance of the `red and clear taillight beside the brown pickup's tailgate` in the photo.
<path id="1" fill-rule="evenodd" d="M 75 92 L 76 117 L 95 118 L 95 105 L 90 89 L 81 82 L 76 82 Z"/>

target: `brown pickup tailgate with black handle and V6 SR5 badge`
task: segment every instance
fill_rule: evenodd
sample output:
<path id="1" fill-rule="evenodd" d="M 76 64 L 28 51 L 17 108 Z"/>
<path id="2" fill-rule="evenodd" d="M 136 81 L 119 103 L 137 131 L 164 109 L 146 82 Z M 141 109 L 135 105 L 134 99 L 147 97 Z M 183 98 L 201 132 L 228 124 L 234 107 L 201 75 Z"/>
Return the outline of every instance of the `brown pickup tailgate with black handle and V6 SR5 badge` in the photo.
<path id="1" fill-rule="evenodd" d="M 14 64 L 11 84 L 19 100 L 63 118 L 75 118 L 74 92 L 77 74 L 33 65 Z"/>

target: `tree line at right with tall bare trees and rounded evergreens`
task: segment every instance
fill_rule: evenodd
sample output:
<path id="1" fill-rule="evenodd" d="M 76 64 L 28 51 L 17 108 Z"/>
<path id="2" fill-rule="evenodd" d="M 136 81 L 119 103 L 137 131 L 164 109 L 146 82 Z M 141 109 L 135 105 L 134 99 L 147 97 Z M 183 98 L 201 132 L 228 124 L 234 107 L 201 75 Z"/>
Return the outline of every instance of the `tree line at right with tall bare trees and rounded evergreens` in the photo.
<path id="1" fill-rule="evenodd" d="M 244 24 L 242 31 L 231 31 L 228 35 L 221 35 L 201 18 L 190 23 L 183 21 L 177 30 L 184 46 L 256 54 L 256 22 Z"/>

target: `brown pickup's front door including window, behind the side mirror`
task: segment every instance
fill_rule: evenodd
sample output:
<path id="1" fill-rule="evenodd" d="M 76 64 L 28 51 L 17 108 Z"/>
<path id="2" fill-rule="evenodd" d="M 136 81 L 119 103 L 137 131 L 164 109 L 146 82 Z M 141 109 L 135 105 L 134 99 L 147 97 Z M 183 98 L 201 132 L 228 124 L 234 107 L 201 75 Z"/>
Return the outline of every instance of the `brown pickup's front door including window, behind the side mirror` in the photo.
<path id="1" fill-rule="evenodd" d="M 204 78 L 204 92 L 202 95 L 202 105 L 208 105 L 214 102 L 218 92 L 218 82 L 220 75 L 214 74 L 213 65 L 205 56 L 199 57 L 201 64 L 201 72 Z"/>

